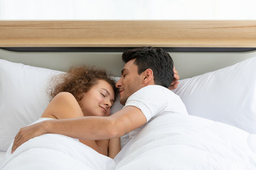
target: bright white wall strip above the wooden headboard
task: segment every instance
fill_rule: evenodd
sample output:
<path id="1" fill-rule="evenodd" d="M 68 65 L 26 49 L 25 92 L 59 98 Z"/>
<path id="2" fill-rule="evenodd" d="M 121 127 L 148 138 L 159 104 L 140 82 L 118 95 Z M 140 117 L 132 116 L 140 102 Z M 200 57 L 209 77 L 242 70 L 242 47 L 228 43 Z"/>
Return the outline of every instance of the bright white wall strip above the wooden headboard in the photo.
<path id="1" fill-rule="evenodd" d="M 2 20 L 250 20 L 255 0 L 0 0 Z"/>

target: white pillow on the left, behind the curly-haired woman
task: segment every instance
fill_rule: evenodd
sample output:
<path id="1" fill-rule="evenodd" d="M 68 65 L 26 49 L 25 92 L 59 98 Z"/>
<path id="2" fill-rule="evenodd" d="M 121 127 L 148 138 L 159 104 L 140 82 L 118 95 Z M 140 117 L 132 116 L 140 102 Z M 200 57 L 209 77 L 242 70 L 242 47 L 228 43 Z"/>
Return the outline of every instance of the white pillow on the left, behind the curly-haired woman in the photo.
<path id="1" fill-rule="evenodd" d="M 20 128 L 41 117 L 51 77 L 61 72 L 0 60 L 0 151 Z"/>

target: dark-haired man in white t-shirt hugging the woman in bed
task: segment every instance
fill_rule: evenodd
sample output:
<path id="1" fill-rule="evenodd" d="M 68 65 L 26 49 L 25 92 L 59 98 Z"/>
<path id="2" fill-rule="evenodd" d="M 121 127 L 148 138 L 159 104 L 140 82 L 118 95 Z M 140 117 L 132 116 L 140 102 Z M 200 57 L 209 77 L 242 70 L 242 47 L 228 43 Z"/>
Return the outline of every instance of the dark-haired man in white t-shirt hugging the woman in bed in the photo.
<path id="1" fill-rule="evenodd" d="M 167 52 L 161 48 L 142 47 L 125 51 L 122 60 L 126 64 L 116 84 L 120 103 L 125 105 L 121 111 L 108 117 L 48 120 L 21 128 L 15 137 L 12 152 L 23 142 L 46 133 L 80 140 L 103 140 L 120 137 L 159 115 L 186 114 L 181 99 L 169 90 L 178 86 L 179 77 L 178 74 L 174 77 L 176 70 Z"/>

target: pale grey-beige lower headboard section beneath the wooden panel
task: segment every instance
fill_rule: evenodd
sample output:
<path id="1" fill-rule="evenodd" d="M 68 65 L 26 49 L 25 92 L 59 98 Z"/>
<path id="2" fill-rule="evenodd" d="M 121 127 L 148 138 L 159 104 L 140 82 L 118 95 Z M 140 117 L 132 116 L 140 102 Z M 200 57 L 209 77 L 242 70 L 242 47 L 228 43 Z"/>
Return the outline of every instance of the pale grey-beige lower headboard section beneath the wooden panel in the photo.
<path id="1" fill-rule="evenodd" d="M 252 52 L 170 52 L 181 79 L 193 77 L 256 57 Z M 87 64 L 105 68 L 119 77 L 124 62 L 122 52 L 11 52 L 0 49 L 0 59 L 36 67 L 68 71 L 73 65 Z"/>

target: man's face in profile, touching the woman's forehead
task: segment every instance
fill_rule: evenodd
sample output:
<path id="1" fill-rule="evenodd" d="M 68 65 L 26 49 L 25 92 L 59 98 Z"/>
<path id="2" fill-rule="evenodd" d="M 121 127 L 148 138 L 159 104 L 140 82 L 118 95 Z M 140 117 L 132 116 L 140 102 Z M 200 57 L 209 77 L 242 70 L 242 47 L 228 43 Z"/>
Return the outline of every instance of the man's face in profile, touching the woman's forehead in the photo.
<path id="1" fill-rule="evenodd" d="M 138 74 L 138 67 L 134 64 L 134 60 L 130 60 L 122 69 L 122 77 L 117 81 L 119 88 L 120 103 L 124 105 L 127 98 L 143 87 L 143 74 Z"/>

